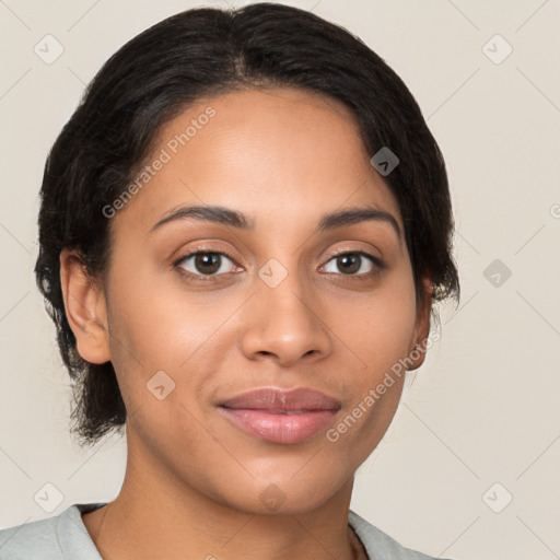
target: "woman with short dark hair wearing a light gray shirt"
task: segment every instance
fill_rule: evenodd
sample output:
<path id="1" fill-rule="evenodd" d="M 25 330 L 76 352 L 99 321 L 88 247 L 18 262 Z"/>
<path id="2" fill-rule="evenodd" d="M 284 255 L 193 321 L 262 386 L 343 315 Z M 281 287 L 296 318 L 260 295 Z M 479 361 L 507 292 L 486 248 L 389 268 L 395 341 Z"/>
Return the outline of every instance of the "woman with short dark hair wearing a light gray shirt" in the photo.
<path id="1" fill-rule="evenodd" d="M 257 3 L 135 37 L 48 156 L 36 264 L 125 480 L 0 558 L 429 558 L 349 505 L 458 299 L 452 230 L 416 101 L 347 31 Z"/>

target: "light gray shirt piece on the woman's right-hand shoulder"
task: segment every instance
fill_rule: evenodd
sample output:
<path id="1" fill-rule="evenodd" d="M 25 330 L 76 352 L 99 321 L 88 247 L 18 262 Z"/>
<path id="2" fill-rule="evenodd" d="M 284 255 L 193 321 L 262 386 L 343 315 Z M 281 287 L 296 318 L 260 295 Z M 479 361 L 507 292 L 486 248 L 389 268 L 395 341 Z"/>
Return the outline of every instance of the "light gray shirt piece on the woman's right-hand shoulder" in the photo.
<path id="1" fill-rule="evenodd" d="M 368 556 L 378 560 L 436 560 L 434 557 L 423 555 L 399 545 L 386 533 L 373 526 L 352 510 L 348 513 L 348 523 L 360 537 Z M 440 559 L 441 560 L 441 559 Z"/>

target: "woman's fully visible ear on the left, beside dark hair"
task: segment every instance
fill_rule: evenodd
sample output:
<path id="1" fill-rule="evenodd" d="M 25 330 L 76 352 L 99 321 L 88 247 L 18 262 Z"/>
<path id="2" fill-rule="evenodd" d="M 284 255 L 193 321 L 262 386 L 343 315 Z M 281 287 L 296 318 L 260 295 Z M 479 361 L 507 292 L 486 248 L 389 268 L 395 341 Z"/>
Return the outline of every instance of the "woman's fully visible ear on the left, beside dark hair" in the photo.
<path id="1" fill-rule="evenodd" d="M 60 284 L 78 353 L 91 363 L 108 362 L 110 350 L 105 295 L 88 275 L 79 252 L 74 249 L 65 248 L 60 253 Z"/>

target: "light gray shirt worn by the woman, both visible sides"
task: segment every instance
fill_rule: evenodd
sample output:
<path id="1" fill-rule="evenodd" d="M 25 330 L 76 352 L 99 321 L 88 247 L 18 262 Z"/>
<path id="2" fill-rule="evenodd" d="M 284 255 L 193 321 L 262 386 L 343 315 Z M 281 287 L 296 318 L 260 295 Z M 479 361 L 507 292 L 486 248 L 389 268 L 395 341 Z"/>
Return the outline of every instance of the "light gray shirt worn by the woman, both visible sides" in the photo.
<path id="1" fill-rule="evenodd" d="M 74 504 L 62 513 L 0 530 L 0 560 L 102 560 L 81 514 L 105 503 Z M 404 548 L 352 510 L 348 523 L 370 560 L 436 560 Z"/>

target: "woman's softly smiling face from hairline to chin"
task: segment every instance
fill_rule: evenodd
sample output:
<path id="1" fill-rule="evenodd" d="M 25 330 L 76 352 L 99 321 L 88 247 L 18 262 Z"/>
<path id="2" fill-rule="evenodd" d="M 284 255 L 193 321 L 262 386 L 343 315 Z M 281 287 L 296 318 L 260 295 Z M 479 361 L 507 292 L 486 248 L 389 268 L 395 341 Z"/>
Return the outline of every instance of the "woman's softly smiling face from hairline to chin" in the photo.
<path id="1" fill-rule="evenodd" d="M 429 326 L 371 155 L 342 104 L 291 89 L 199 100 L 161 131 L 150 177 L 109 220 L 95 314 L 110 335 L 78 335 L 82 357 L 114 364 L 131 457 L 252 512 L 269 511 L 267 498 L 310 511 L 352 479 L 404 375 L 376 387 Z M 221 406 L 260 388 L 308 388 L 336 406 Z"/>

